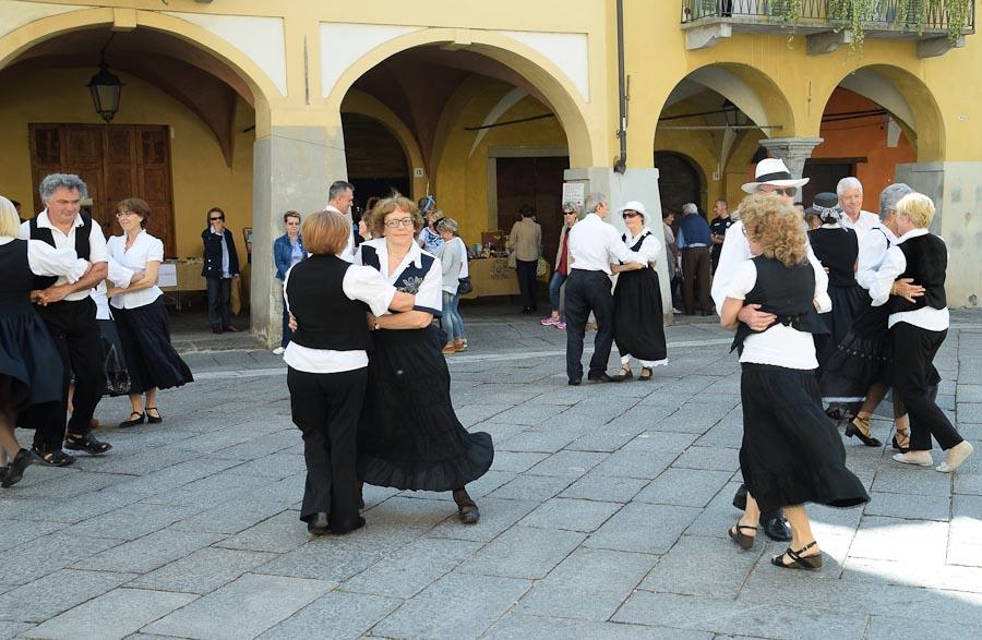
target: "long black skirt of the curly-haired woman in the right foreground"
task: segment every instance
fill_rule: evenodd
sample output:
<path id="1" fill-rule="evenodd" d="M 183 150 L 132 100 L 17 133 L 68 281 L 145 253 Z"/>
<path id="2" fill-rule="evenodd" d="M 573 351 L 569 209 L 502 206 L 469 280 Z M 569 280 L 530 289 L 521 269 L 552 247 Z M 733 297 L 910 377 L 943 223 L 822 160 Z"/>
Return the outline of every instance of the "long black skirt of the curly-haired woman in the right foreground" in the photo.
<path id="1" fill-rule="evenodd" d="M 817 503 L 853 507 L 870 499 L 846 468 L 846 448 L 825 415 L 815 373 L 743 363 L 740 469 L 761 509 Z"/>

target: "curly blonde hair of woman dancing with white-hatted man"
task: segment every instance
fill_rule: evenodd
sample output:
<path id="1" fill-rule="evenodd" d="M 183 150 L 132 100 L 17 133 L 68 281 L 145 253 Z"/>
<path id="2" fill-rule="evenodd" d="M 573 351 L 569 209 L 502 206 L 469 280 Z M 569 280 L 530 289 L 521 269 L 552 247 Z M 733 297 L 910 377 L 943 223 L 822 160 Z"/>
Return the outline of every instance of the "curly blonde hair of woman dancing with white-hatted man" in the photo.
<path id="1" fill-rule="evenodd" d="M 740 203 L 740 219 L 749 240 L 761 243 L 761 255 L 786 267 L 807 259 L 807 237 L 801 216 L 777 195 L 753 194 Z"/>

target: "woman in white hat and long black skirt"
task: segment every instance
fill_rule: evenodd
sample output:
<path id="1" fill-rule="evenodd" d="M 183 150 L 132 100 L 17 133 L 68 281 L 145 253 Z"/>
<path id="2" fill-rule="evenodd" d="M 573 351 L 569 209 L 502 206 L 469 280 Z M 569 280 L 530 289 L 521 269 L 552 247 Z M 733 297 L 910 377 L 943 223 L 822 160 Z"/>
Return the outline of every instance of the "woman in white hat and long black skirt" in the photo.
<path id="1" fill-rule="evenodd" d="M 621 217 L 627 227 L 621 240 L 644 258 L 644 264 L 610 266 L 611 273 L 619 274 L 614 289 L 613 334 L 621 354 L 621 373 L 614 379 L 634 377 L 631 359 L 637 358 L 642 363 L 637 379 L 649 381 L 654 367 L 668 364 L 661 288 L 655 271 L 661 242 L 645 226 L 647 212 L 644 204 L 628 202 L 621 208 Z"/>

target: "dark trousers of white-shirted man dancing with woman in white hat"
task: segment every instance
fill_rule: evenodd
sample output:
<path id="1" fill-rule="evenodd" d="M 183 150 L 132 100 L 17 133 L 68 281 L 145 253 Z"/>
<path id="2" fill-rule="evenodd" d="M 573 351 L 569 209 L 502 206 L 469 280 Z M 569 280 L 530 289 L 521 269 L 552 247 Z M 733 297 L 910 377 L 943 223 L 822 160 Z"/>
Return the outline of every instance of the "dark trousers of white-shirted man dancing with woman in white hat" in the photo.
<path id="1" fill-rule="evenodd" d="M 566 279 L 566 375 L 571 381 L 583 378 L 583 337 L 590 311 L 597 319 L 597 337 L 594 338 L 594 357 L 590 359 L 590 375 L 596 376 L 607 372 L 613 342 L 610 277 L 603 271 L 571 269 Z"/>

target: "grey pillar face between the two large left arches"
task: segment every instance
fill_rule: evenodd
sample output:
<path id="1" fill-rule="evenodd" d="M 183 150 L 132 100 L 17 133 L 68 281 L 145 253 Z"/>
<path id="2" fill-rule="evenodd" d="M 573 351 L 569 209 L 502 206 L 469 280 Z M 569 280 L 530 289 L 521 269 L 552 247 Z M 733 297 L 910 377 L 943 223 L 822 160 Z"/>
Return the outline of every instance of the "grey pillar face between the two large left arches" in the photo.
<path id="1" fill-rule="evenodd" d="M 279 126 L 255 141 L 252 168 L 251 329 L 268 347 L 279 342 L 283 299 L 273 265 L 273 240 L 283 214 L 323 209 L 327 188 L 347 179 L 340 126 Z"/>

